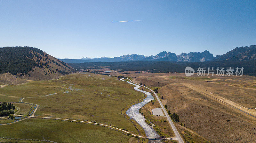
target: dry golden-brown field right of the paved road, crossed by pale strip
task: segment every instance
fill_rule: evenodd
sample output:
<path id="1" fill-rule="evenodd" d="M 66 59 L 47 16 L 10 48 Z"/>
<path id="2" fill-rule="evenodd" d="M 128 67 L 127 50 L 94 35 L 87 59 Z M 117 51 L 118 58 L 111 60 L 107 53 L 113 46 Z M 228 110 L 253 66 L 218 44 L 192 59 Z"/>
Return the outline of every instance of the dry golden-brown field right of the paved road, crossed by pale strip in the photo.
<path id="1" fill-rule="evenodd" d="M 130 74 L 115 74 L 159 87 L 162 103 L 176 112 L 191 132 L 213 143 L 256 142 L 256 77 L 125 72 Z M 184 132 L 179 123 L 176 127 Z"/>

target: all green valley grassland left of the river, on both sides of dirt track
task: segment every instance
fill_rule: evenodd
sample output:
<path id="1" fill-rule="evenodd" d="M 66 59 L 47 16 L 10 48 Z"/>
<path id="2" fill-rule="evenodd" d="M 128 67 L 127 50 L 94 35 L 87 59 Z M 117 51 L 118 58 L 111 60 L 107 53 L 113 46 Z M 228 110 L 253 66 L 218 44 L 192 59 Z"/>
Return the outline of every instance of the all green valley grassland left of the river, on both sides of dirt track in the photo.
<path id="1" fill-rule="evenodd" d="M 69 87 L 72 88 L 67 89 Z M 65 91 L 70 92 L 63 93 Z M 20 97 L 35 97 L 23 99 L 23 102 L 39 105 L 35 116 L 97 121 L 139 133 L 132 122 L 124 118 L 121 111 L 124 107 L 127 110 L 130 104 L 139 102 L 144 94 L 134 90 L 131 84 L 120 81 L 116 77 L 91 73 L 87 75 L 73 74 L 58 80 L 6 86 L 0 89 L 0 93 L 6 102 L 10 102 L 7 100 L 9 98 L 10 100 L 17 98 L 19 101 Z M 17 114 L 25 114 L 31 108 L 25 104 L 16 104 L 16 106 L 20 108 Z M 139 129 L 140 134 L 144 135 L 142 128 L 135 121 L 133 123 Z M 8 132 L 7 129 L 9 128 L 15 129 L 17 132 Z M 113 132 L 115 132 L 114 136 L 112 135 Z M 129 139 L 128 136 L 105 127 L 35 118 L 2 125 L 0 136 L 27 139 L 43 139 L 44 137 L 57 142 L 74 142 L 74 140 L 83 140 L 82 142 L 107 142 L 108 140 L 120 142 L 122 140 L 128 142 Z"/>

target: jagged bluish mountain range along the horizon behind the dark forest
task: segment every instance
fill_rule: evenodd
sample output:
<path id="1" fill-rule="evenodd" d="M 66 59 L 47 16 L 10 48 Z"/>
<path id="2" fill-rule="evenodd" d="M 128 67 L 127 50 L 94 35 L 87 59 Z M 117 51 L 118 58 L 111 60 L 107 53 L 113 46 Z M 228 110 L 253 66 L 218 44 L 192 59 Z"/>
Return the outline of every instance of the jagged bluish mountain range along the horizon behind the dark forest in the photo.
<path id="1" fill-rule="evenodd" d="M 166 51 L 160 52 L 155 56 L 144 56 L 139 54 L 123 55 L 120 57 L 108 58 L 82 58 L 82 59 L 60 59 L 61 61 L 67 63 L 83 63 L 83 62 L 93 62 L 93 61 L 188 61 L 188 62 L 199 62 L 199 61 L 250 61 L 256 60 L 256 45 L 236 47 L 235 49 L 227 52 L 223 55 L 217 55 L 214 57 L 209 51 L 204 52 L 190 52 L 181 53 L 176 55 L 174 53 L 167 53 Z"/>

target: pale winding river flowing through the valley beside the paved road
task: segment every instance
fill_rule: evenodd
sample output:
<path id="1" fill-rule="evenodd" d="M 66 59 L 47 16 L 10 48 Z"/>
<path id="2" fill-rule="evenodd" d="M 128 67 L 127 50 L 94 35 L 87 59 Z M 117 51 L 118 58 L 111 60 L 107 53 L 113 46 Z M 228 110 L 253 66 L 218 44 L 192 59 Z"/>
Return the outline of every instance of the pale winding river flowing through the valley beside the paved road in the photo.
<path id="1" fill-rule="evenodd" d="M 124 79 L 122 78 L 121 79 L 122 81 L 124 81 Z M 141 107 L 143 107 L 145 104 L 147 104 L 148 102 L 150 102 L 151 100 L 154 100 L 154 97 L 151 95 L 151 93 L 147 92 L 147 91 L 143 91 L 143 90 L 140 90 L 140 86 L 137 85 L 137 84 L 134 84 L 134 83 L 131 83 L 131 82 L 128 82 L 128 81 L 125 81 L 127 83 L 130 83 L 132 85 L 135 85 L 135 87 L 133 89 L 137 90 L 137 91 L 140 91 L 140 92 L 143 92 L 147 95 L 147 97 L 145 99 L 143 99 L 142 102 L 138 103 L 138 104 L 134 104 L 132 105 L 127 111 L 126 111 L 126 114 L 133 120 L 135 120 L 142 128 L 143 130 L 145 131 L 145 134 L 147 135 L 147 137 L 158 137 L 160 138 L 160 135 L 157 134 L 157 132 L 154 130 L 154 128 L 150 125 L 148 125 L 146 122 L 145 122 L 145 118 L 143 115 L 141 115 L 139 113 L 139 110 Z M 148 141 L 149 143 L 162 143 L 161 140 L 149 140 Z"/>

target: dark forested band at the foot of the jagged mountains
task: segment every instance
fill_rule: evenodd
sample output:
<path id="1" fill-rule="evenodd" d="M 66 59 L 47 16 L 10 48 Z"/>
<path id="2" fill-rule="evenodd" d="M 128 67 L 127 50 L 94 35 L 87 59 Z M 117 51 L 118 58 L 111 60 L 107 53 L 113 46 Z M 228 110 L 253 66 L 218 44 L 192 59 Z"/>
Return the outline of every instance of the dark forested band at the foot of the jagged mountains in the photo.
<path id="1" fill-rule="evenodd" d="M 184 73 L 187 66 L 197 71 L 197 68 L 239 67 L 244 68 L 244 75 L 256 76 L 256 61 L 206 61 L 206 62 L 169 62 L 169 61 L 126 61 L 126 62 L 85 62 L 69 63 L 75 69 L 139 70 L 152 73 L 178 72 Z M 215 71 L 216 72 L 216 71 Z"/>

